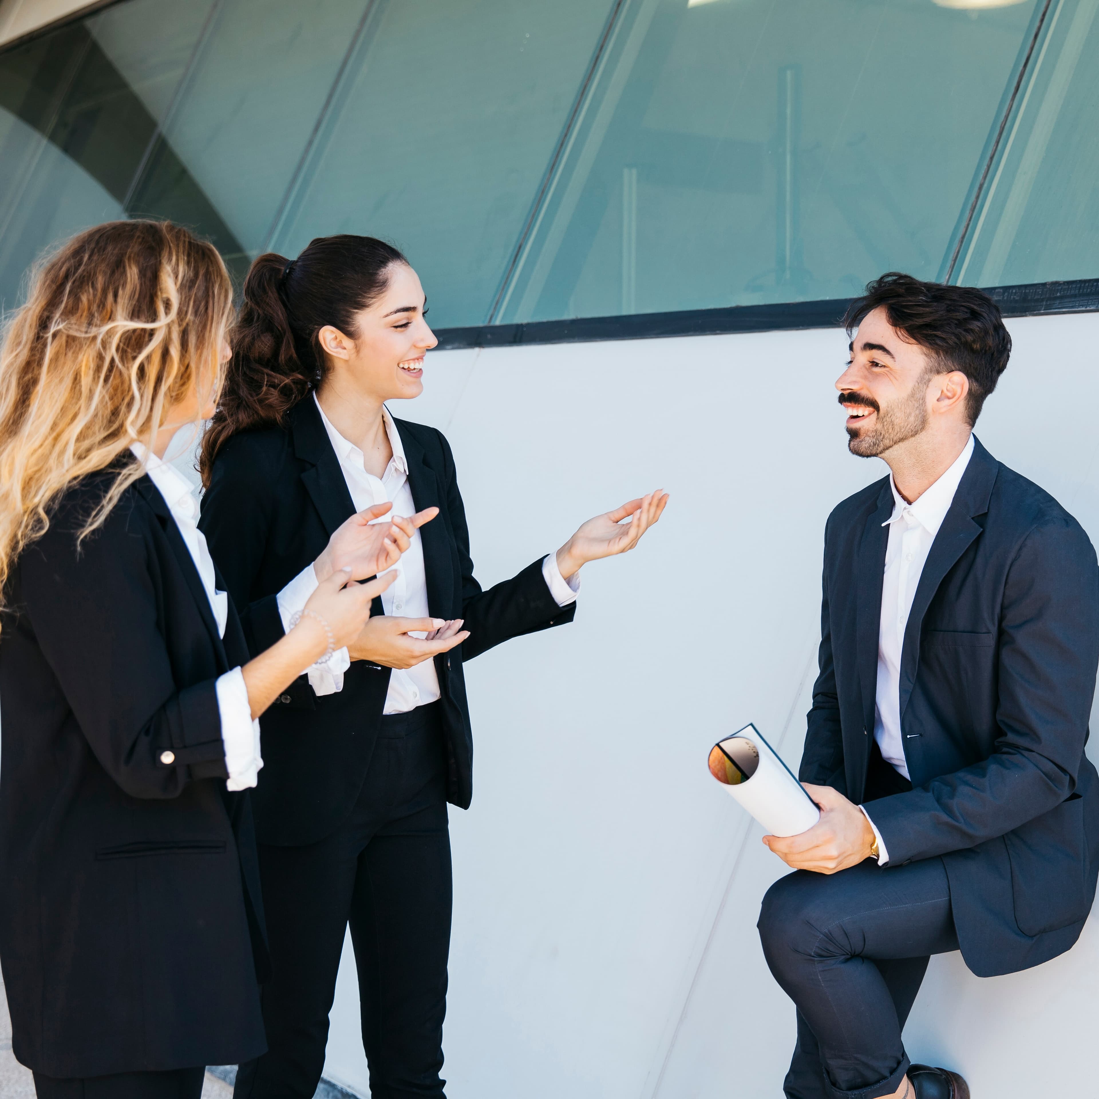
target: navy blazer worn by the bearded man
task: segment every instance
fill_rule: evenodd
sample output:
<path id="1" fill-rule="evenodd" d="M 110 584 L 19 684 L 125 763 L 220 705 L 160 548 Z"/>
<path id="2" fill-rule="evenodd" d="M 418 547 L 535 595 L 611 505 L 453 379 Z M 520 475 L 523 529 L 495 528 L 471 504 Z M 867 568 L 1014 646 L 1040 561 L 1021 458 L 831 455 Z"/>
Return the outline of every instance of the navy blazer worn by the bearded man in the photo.
<path id="1" fill-rule="evenodd" d="M 862 801 L 874 740 L 888 477 L 824 535 L 820 676 L 802 781 Z M 1099 874 L 1084 754 L 1099 665 L 1099 568 L 1079 523 L 979 442 L 904 631 L 900 712 L 914 789 L 874 801 L 889 865 L 941 855 L 981 977 L 1068 950 Z"/>

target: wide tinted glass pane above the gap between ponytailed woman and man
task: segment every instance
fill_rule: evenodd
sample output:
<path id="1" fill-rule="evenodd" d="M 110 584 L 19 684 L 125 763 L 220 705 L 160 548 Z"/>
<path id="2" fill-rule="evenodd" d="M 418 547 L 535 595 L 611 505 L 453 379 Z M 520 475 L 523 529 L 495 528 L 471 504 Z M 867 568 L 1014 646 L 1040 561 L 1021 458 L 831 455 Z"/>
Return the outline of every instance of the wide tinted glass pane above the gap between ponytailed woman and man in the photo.
<path id="1" fill-rule="evenodd" d="M 934 278 L 1033 14 L 1033 0 L 632 4 L 499 319 Z"/>

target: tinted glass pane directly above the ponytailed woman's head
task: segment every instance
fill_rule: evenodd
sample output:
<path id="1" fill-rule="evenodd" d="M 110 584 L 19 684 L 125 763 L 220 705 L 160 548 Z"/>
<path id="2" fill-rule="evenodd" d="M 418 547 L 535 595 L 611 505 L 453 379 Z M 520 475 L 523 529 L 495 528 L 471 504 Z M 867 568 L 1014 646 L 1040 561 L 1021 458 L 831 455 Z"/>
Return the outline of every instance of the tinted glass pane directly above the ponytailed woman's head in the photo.
<path id="1" fill-rule="evenodd" d="M 417 267 L 439 325 L 488 320 L 610 0 L 379 4 L 276 235 L 367 233 Z"/>

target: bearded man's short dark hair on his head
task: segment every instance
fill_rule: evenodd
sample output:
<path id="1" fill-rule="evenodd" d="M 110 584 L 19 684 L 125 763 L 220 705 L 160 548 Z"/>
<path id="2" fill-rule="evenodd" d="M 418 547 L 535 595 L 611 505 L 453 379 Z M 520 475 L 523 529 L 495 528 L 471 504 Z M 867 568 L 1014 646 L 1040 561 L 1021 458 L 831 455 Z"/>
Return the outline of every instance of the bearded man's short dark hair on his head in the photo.
<path id="1" fill-rule="evenodd" d="M 895 329 L 932 353 L 942 373 L 961 370 L 969 379 L 966 417 L 970 426 L 975 424 L 1011 356 L 1000 307 L 974 287 L 921 282 L 888 271 L 867 282 L 866 293 L 848 307 L 843 318 L 847 335 L 878 308 L 885 309 Z"/>

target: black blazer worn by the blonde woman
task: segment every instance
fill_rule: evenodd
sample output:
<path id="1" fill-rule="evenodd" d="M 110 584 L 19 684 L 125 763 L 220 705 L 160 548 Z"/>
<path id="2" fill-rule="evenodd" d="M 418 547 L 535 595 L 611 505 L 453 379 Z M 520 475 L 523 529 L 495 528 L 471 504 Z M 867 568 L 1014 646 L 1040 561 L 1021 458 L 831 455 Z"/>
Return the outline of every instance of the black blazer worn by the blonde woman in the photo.
<path id="1" fill-rule="evenodd" d="M 77 550 L 115 471 L 66 491 L 0 634 L 0 959 L 14 1054 L 53 1077 L 266 1048 L 255 840 L 214 692 L 247 651 L 148 477 Z"/>

